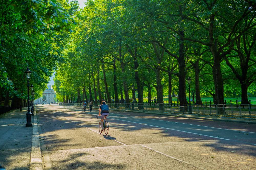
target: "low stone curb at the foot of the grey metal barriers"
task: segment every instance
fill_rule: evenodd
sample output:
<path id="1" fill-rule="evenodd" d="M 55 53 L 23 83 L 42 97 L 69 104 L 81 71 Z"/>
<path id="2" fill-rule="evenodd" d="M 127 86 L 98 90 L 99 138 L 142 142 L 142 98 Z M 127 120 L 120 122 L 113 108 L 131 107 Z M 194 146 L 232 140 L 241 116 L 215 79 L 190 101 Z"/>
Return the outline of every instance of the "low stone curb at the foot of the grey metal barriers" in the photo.
<path id="1" fill-rule="evenodd" d="M 61 106 L 61 105 L 60 105 Z M 65 105 L 63 105 L 65 106 Z M 82 107 L 82 106 L 76 106 Z M 249 123 L 249 124 L 256 124 L 256 122 L 250 121 L 240 121 L 240 120 L 229 120 L 229 119 L 216 119 L 216 118 L 209 118 L 209 117 L 196 117 L 196 116 L 184 116 L 184 115 L 177 115 L 177 114 L 164 114 L 164 113 L 152 113 L 152 112 L 141 112 L 141 111 L 134 111 L 134 110 L 120 110 L 120 109 L 109 109 L 109 110 L 119 110 L 124 112 L 134 112 L 134 113 L 144 113 L 144 114 L 156 114 L 156 115 L 164 115 L 164 116 L 174 116 L 174 117 L 185 117 L 190 119 L 203 119 L 203 120 L 212 120 L 212 121 L 223 121 L 223 122 L 237 122 L 237 123 Z"/>

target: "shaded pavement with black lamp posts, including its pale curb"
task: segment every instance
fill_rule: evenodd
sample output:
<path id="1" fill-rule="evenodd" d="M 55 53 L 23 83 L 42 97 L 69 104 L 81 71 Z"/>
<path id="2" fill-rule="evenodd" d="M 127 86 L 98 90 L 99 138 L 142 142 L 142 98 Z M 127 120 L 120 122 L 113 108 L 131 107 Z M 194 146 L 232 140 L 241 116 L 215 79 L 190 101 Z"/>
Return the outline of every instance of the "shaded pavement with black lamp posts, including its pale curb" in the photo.
<path id="1" fill-rule="evenodd" d="M 42 169 L 36 113 L 26 127 L 26 109 L 0 115 L 0 162 L 8 170 Z"/>

